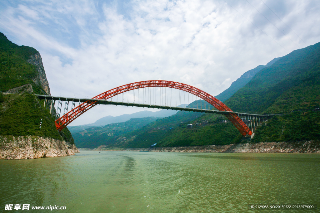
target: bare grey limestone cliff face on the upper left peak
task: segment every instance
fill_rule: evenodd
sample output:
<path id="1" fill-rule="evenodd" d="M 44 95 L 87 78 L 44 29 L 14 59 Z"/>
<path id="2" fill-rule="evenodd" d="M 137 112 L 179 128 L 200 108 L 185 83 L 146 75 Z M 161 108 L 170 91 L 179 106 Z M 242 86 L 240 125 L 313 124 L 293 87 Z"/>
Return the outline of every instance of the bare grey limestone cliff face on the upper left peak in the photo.
<path id="1" fill-rule="evenodd" d="M 47 80 L 47 76 L 45 75 L 44 66 L 42 63 L 42 58 L 41 58 L 40 53 L 38 52 L 38 53 L 30 56 L 28 63 L 35 65 L 36 71 L 38 72 L 37 77 L 35 79 L 33 79 L 33 81 L 35 83 L 39 83 L 41 85 L 41 87 L 44 89 L 44 91 L 47 93 L 47 95 L 51 95 L 49 83 Z"/>

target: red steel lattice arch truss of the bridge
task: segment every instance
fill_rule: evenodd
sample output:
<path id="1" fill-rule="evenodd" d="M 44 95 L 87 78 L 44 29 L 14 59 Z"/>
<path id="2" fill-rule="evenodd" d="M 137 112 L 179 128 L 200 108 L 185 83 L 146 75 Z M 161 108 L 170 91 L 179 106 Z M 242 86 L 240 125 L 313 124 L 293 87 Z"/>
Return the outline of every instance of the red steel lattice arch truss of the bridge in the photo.
<path id="1" fill-rule="evenodd" d="M 139 81 L 131 84 L 126 84 L 120 87 L 116 87 L 114 89 L 110 89 L 104 93 L 101 93 L 100 95 L 93 97 L 92 99 L 107 100 L 115 95 L 127 92 L 129 90 L 139 89 L 144 87 L 170 87 L 170 88 L 180 89 L 188 93 L 191 93 L 193 95 L 196 95 L 201 99 L 205 100 L 206 102 L 210 103 L 212 106 L 214 106 L 216 109 L 220 111 L 230 111 L 230 113 L 226 114 L 225 116 L 233 123 L 233 125 L 236 126 L 239 132 L 244 136 L 247 134 L 252 135 L 250 128 L 247 125 L 245 125 L 245 123 L 241 120 L 241 118 L 239 118 L 236 115 L 236 113 L 233 113 L 232 110 L 230 110 L 224 103 L 222 103 L 212 95 L 202 91 L 201 89 L 192 87 L 187 84 L 182 84 L 179 82 L 166 81 L 166 80 Z M 91 109 L 97 104 L 98 104 L 97 101 L 88 100 L 80 104 L 76 108 L 68 111 L 65 115 L 63 115 L 62 117 L 60 117 L 58 120 L 55 121 L 57 130 L 61 131 L 74 119 L 76 119 L 78 116 L 80 116 L 85 111 Z"/>

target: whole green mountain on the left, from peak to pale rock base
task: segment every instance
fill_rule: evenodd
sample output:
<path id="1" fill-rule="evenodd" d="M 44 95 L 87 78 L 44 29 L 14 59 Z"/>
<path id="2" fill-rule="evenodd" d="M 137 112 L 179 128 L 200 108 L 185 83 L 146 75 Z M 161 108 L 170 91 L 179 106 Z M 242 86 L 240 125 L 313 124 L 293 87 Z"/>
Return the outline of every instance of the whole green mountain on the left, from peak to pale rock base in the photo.
<path id="1" fill-rule="evenodd" d="M 42 136 L 74 144 L 69 130 L 59 133 L 44 101 L 33 95 L 50 95 L 36 49 L 14 44 L 0 33 L 0 71 L 0 135 Z"/>

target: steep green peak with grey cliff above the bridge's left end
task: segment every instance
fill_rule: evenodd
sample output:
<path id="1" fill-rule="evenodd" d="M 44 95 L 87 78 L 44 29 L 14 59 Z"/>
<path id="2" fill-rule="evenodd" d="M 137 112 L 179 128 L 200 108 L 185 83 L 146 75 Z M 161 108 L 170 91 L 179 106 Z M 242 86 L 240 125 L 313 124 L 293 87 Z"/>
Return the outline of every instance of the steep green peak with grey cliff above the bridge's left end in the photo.
<path id="1" fill-rule="evenodd" d="M 50 95 L 40 53 L 12 43 L 0 33 L 0 91 Z M 15 89 L 14 89 L 15 88 Z"/>

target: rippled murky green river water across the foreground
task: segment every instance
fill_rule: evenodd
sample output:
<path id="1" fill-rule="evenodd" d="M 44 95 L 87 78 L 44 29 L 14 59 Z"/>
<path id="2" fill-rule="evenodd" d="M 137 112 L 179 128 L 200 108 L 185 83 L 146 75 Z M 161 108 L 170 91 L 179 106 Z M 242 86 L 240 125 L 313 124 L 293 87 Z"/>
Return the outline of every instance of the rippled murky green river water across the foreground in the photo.
<path id="1" fill-rule="evenodd" d="M 0 169 L 0 212 L 320 208 L 320 154 L 81 151 L 74 156 L 0 160 Z M 30 209 L 9 211 L 5 204 L 30 204 Z M 248 204 L 317 204 L 318 209 L 248 209 Z M 66 209 L 31 209 L 50 205 Z"/>

